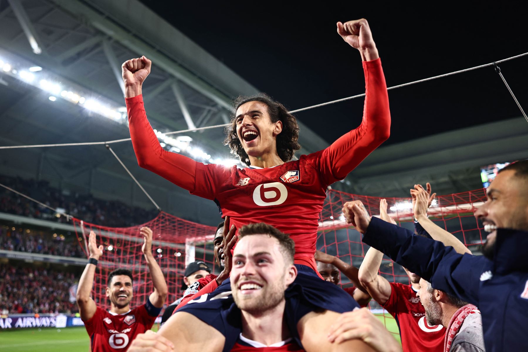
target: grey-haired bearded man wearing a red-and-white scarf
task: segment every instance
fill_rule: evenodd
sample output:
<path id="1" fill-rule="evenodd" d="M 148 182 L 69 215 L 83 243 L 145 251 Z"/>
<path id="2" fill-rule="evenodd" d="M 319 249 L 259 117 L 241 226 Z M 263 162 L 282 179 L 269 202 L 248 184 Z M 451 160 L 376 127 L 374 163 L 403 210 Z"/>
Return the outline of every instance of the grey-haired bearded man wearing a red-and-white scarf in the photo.
<path id="1" fill-rule="evenodd" d="M 455 296 L 433 289 L 420 279 L 416 293 L 426 311 L 429 325 L 442 325 L 446 331 L 444 352 L 484 352 L 484 335 L 480 311 Z"/>

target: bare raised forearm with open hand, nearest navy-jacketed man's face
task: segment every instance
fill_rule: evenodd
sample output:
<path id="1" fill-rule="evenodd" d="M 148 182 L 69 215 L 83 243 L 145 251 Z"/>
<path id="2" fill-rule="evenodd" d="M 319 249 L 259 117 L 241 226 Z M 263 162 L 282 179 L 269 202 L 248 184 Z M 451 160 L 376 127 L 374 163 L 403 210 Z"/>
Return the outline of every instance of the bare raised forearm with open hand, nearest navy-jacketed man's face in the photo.
<path id="1" fill-rule="evenodd" d="M 427 186 L 430 189 L 430 185 L 427 184 Z M 429 217 L 427 217 L 427 208 L 431 204 L 430 201 L 432 201 L 429 194 L 430 191 L 428 193 L 421 185 L 414 185 L 414 188 L 411 189 L 411 196 L 414 203 L 414 217 L 416 220 L 418 220 L 418 223 L 425 231 L 427 231 L 433 240 L 440 241 L 446 246 L 452 246 L 452 248 L 454 248 L 457 253 L 472 254 L 471 251 L 464 245 L 464 243 L 457 239 L 457 237 L 442 229 L 440 226 L 433 223 Z"/>

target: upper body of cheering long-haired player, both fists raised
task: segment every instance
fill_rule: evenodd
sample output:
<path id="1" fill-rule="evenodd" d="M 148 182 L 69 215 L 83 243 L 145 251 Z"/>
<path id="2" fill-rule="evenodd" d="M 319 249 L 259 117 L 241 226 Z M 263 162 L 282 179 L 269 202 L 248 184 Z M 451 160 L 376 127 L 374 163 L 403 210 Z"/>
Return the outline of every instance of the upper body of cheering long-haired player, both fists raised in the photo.
<path id="1" fill-rule="evenodd" d="M 190 193 L 214 200 L 239 229 L 265 222 L 296 243 L 296 264 L 317 270 L 318 218 L 328 185 L 346 177 L 390 134 L 389 98 L 378 50 L 366 20 L 337 23 L 337 32 L 360 51 L 365 73 L 361 125 L 331 146 L 290 161 L 297 143 L 295 117 L 265 94 L 239 98 L 227 142 L 246 168 L 204 165 L 164 150 L 150 127 L 142 84 L 152 62 L 143 56 L 122 65 L 130 136 L 141 167 Z"/>

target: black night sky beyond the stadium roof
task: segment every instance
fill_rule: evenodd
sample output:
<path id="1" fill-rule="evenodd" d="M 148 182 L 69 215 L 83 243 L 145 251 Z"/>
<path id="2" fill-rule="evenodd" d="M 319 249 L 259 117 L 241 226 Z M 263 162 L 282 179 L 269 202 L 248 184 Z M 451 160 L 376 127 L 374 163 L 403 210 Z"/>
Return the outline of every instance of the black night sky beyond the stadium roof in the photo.
<path id="1" fill-rule="evenodd" d="M 360 55 L 336 33 L 337 21 L 369 21 L 389 86 L 528 52 L 522 3 L 143 3 L 290 109 L 364 92 Z M 527 66 L 528 56 L 500 65 L 526 111 Z M 521 116 L 493 68 L 392 90 L 389 99 L 386 144 Z M 332 142 L 359 124 L 362 109 L 355 99 L 297 117 Z"/>

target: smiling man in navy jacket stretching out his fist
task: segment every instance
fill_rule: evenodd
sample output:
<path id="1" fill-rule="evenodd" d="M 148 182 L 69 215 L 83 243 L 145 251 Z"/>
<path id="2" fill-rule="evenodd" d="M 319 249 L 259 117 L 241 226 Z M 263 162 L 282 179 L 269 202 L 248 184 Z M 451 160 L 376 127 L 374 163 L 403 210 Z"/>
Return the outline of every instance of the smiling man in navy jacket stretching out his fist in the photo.
<path id="1" fill-rule="evenodd" d="M 502 169 L 475 212 L 489 232 L 484 256 L 458 254 L 441 242 L 371 217 L 361 202 L 345 204 L 363 242 L 390 256 L 432 287 L 482 312 L 487 352 L 528 351 L 528 160 Z"/>

